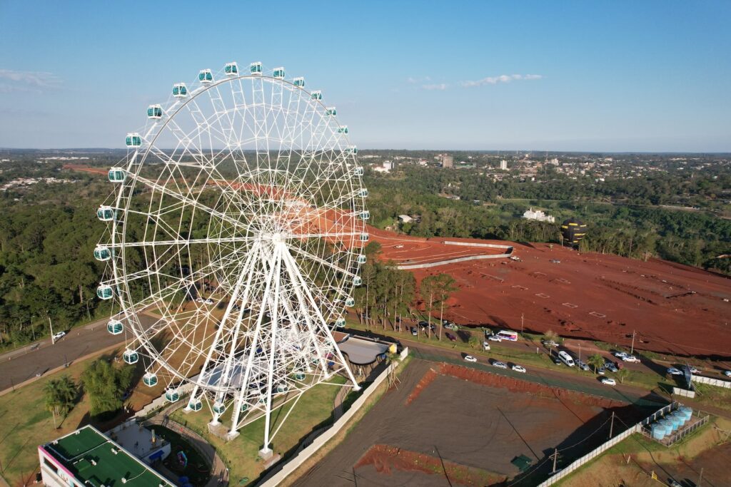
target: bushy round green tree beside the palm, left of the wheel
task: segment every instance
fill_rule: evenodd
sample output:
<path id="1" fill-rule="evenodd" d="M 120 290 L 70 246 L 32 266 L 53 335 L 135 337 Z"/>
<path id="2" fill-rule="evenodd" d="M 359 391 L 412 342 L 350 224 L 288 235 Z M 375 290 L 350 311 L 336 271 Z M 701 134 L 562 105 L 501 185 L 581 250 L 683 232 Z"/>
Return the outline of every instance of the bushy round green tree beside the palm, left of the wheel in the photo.
<path id="1" fill-rule="evenodd" d="M 106 360 L 94 361 L 81 375 L 84 389 L 89 395 L 92 416 L 122 407 L 122 395 L 132 380 L 134 367 L 114 367 Z"/>

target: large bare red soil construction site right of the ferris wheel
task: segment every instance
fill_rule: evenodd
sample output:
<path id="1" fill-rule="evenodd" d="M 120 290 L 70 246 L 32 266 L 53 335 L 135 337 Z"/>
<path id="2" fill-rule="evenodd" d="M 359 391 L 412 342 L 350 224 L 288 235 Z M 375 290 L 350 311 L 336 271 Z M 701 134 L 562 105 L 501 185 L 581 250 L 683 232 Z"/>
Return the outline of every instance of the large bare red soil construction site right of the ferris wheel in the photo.
<path id="1" fill-rule="evenodd" d="M 382 257 L 397 264 L 501 252 L 369 230 L 382 245 Z M 577 253 L 560 245 L 446 240 L 511 245 L 511 255 L 520 258 L 414 269 L 419 282 L 440 273 L 457 281 L 459 290 L 450 299 L 446 319 L 520 330 L 522 318 L 525 331 L 553 330 L 564 337 L 620 345 L 629 345 L 636 331 L 635 348 L 640 350 L 731 356 L 728 277 L 659 259 Z"/>

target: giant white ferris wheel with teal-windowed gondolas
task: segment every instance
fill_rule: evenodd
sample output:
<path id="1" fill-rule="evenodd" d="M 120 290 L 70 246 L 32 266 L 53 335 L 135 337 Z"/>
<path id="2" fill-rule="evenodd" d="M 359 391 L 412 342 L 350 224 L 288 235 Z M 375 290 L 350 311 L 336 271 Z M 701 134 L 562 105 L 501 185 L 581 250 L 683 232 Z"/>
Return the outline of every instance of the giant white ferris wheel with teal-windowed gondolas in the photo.
<path id="1" fill-rule="evenodd" d="M 268 453 L 274 410 L 335 374 L 359 388 L 333 338 L 368 241 L 348 128 L 304 78 L 228 63 L 175 83 L 125 142 L 97 210 L 107 329 L 146 386 L 189 391 L 186 410 L 206 407 L 229 438 L 265 416 Z"/>

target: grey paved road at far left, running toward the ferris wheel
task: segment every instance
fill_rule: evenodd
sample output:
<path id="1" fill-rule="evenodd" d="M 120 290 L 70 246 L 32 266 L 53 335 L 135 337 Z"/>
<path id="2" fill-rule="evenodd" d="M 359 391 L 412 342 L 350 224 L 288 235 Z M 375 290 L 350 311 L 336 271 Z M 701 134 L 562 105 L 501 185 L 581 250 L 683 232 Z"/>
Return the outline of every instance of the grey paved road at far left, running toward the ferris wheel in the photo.
<path id="1" fill-rule="evenodd" d="M 36 374 L 73 363 L 78 358 L 97 350 L 124 342 L 125 334 L 113 335 L 107 331 L 107 321 L 96 321 L 72 329 L 65 337 L 51 345 L 50 338 L 36 342 L 37 348 L 27 346 L 0 356 L 0 391 L 29 380 Z M 154 318 L 140 315 L 143 326 L 150 326 Z M 55 330 L 58 331 L 58 330 Z"/>

